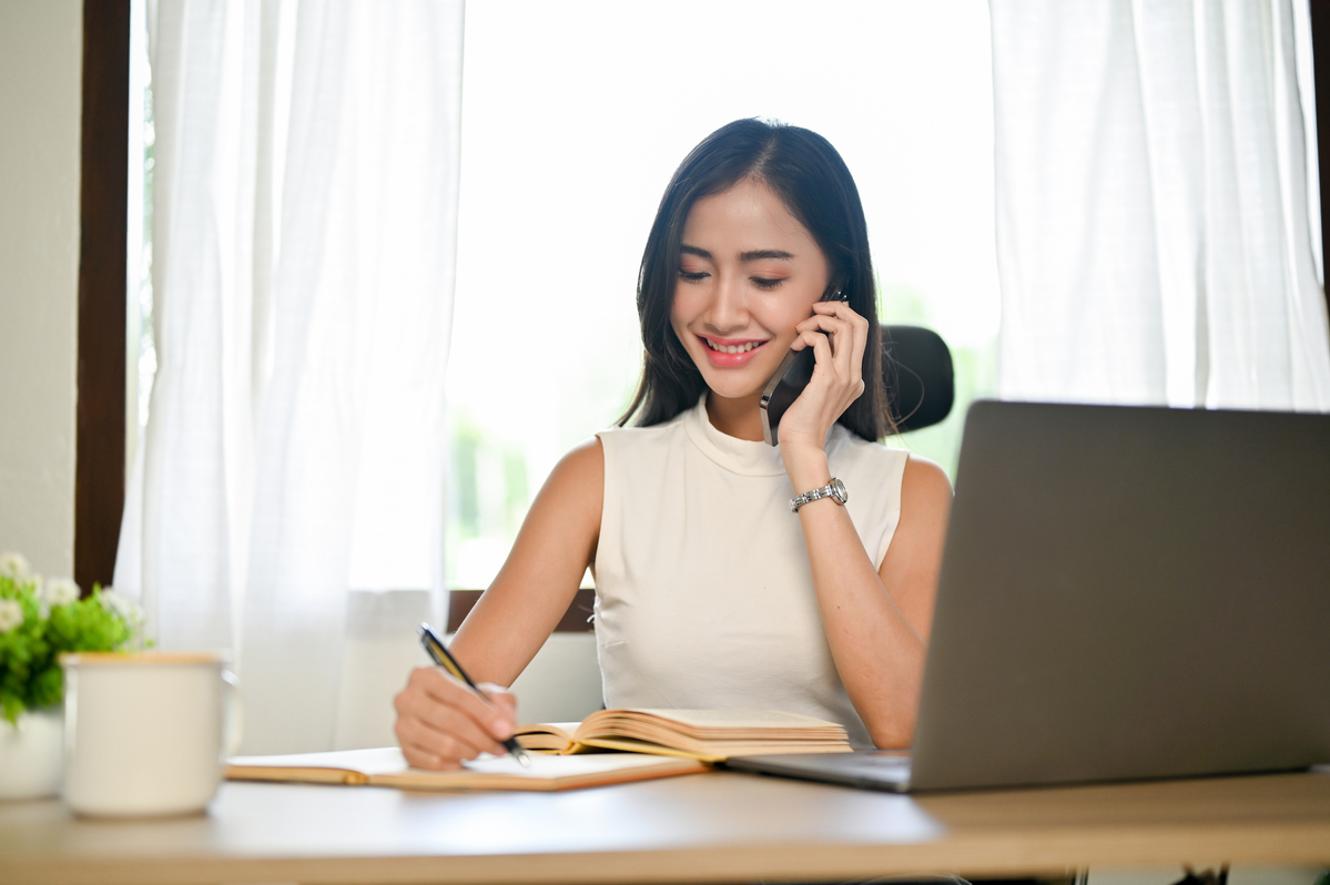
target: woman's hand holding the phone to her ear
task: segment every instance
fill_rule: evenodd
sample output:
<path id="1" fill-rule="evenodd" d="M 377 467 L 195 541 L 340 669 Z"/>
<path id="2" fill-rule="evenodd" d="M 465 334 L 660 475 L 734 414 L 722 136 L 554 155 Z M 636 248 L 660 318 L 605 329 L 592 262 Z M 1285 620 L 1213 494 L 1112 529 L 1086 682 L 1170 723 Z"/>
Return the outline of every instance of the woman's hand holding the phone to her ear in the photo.
<path id="1" fill-rule="evenodd" d="M 811 347 L 817 364 L 777 431 L 787 470 L 791 456 L 822 452 L 831 425 L 863 395 L 863 348 L 868 343 L 868 320 L 845 302 L 815 303 L 813 316 L 794 328 L 798 338 L 791 349 Z"/>

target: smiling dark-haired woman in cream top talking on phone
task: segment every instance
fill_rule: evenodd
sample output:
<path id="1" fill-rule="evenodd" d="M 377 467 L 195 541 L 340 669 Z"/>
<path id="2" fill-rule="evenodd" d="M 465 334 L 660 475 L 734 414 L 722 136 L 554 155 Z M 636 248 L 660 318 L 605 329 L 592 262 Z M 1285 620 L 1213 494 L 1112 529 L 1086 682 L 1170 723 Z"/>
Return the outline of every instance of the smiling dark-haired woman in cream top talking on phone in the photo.
<path id="1" fill-rule="evenodd" d="M 841 300 L 822 300 L 825 295 Z M 589 565 L 610 707 L 732 707 L 914 734 L 951 485 L 891 429 L 858 190 L 806 129 L 741 120 L 674 173 L 642 256 L 646 356 L 628 415 L 569 452 L 452 651 L 396 698 L 407 760 L 452 768 L 516 723 L 508 686 Z M 813 380 L 762 441 L 758 400 L 790 349 Z M 801 493 L 837 477 L 846 501 Z"/>

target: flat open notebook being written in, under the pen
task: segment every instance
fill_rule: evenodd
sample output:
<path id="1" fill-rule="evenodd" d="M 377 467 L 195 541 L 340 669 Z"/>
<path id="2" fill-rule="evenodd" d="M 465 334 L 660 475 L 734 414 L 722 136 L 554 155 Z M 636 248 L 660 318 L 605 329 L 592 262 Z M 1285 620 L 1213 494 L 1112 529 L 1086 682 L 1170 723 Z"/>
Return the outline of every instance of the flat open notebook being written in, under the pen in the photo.
<path id="1" fill-rule="evenodd" d="M 523 789 L 551 792 L 706 771 L 706 763 L 644 753 L 592 756 L 532 755 L 531 768 L 512 756 L 484 756 L 460 771 L 422 771 L 407 765 L 398 747 L 339 749 L 283 756 L 234 756 L 230 780 L 274 780 L 309 784 L 368 784 L 399 789 Z"/>

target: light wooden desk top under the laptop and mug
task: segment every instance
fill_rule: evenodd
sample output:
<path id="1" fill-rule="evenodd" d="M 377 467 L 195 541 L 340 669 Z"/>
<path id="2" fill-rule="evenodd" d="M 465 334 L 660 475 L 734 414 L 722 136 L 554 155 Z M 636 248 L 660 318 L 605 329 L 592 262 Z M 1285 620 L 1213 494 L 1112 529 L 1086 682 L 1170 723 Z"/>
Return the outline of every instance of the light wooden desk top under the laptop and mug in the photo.
<path id="1" fill-rule="evenodd" d="M 0 882 L 741 882 L 1330 864 L 1330 775 L 891 796 L 712 772 L 565 793 L 223 784 L 206 816 L 0 804 Z"/>

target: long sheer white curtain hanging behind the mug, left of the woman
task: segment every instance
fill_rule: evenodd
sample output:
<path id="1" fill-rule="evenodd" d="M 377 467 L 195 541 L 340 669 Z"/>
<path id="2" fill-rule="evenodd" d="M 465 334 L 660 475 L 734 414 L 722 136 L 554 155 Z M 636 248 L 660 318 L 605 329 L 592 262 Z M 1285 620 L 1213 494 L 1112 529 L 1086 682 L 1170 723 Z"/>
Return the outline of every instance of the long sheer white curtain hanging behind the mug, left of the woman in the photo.
<path id="1" fill-rule="evenodd" d="M 442 591 L 462 12 L 149 0 L 158 371 L 116 586 L 161 647 L 233 650 L 245 752 L 334 745 L 348 591 Z"/>

